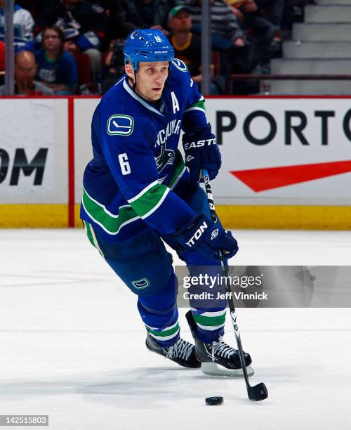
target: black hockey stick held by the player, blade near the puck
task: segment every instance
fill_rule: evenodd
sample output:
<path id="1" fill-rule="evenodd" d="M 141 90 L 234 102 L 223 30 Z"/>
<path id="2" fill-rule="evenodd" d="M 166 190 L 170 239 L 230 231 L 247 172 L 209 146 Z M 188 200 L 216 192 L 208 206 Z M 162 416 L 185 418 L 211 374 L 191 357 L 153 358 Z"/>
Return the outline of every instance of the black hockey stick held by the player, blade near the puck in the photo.
<path id="1" fill-rule="evenodd" d="M 207 200 L 208 200 L 208 207 L 210 208 L 213 222 L 216 224 L 217 223 L 216 208 L 215 208 L 215 204 L 213 202 L 211 183 L 210 183 L 210 178 L 208 177 L 208 171 L 206 169 L 203 169 L 202 175 L 204 177 L 206 195 L 207 195 Z M 227 277 L 227 275 L 228 275 L 227 264 L 225 262 L 225 258 L 223 256 L 222 252 L 219 252 L 219 253 L 220 253 L 219 254 L 220 255 L 220 263 L 222 265 L 223 275 L 225 275 Z M 225 282 L 225 290 L 227 293 L 229 293 L 229 294 L 227 294 L 228 306 L 230 308 L 230 317 L 232 318 L 232 324 L 233 324 L 233 328 L 234 328 L 235 339 L 237 340 L 237 346 L 238 346 L 238 350 L 239 350 L 241 367 L 242 367 L 242 370 L 244 372 L 247 395 L 249 396 L 249 399 L 253 400 L 254 402 L 258 402 L 260 400 L 265 400 L 265 398 L 268 397 L 268 391 L 267 391 L 267 387 L 265 386 L 265 384 L 263 384 L 263 382 L 260 382 L 260 384 L 257 384 L 255 386 L 250 385 L 249 376 L 248 376 L 247 370 L 246 370 L 244 351 L 243 351 L 243 347 L 241 345 L 239 327 L 237 325 L 237 313 L 235 312 L 234 301 L 230 299 L 231 291 L 230 291 L 230 286 L 227 284 L 227 282 Z"/>

